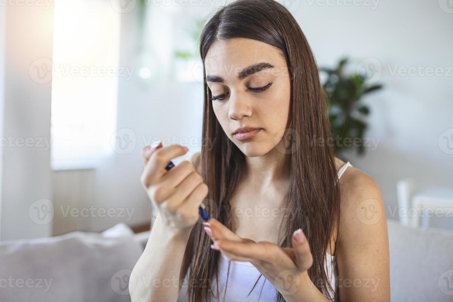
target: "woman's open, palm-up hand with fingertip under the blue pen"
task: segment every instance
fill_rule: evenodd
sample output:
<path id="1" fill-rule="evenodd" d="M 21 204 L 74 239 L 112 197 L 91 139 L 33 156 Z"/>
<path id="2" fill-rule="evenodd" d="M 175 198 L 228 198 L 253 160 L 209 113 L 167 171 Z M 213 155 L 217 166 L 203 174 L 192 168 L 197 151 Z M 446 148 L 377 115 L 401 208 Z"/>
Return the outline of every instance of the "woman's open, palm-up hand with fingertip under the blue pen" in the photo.
<path id="1" fill-rule="evenodd" d="M 302 230 L 294 232 L 293 248 L 282 248 L 268 241 L 242 238 L 213 218 L 203 224 L 213 241 L 212 249 L 220 250 L 229 260 L 250 262 L 282 295 L 294 294 L 302 279 L 308 278 L 313 256 Z"/>

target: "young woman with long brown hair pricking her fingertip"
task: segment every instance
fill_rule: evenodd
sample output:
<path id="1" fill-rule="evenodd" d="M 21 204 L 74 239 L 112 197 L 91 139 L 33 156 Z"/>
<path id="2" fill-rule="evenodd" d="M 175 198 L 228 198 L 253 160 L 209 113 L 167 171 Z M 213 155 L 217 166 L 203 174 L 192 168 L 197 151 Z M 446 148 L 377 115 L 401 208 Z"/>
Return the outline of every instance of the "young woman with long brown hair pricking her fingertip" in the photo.
<path id="1" fill-rule="evenodd" d="M 390 301 L 376 182 L 335 158 L 318 68 L 273 0 L 239 0 L 206 24 L 203 138 L 145 147 L 159 215 L 133 270 L 132 301 Z M 198 206 L 212 219 L 201 223 Z M 183 282 L 185 276 L 188 278 Z"/>

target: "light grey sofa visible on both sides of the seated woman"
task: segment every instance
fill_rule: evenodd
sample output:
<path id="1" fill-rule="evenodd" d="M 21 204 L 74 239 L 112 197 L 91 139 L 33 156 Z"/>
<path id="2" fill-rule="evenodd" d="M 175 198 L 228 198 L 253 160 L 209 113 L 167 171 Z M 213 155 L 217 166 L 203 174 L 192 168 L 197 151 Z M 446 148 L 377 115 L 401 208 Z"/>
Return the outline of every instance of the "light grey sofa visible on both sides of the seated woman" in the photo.
<path id="1" fill-rule="evenodd" d="M 391 301 L 453 301 L 453 232 L 387 225 Z M 0 242 L 1 301 L 130 301 L 130 271 L 148 235 L 120 224 L 101 234 Z"/>

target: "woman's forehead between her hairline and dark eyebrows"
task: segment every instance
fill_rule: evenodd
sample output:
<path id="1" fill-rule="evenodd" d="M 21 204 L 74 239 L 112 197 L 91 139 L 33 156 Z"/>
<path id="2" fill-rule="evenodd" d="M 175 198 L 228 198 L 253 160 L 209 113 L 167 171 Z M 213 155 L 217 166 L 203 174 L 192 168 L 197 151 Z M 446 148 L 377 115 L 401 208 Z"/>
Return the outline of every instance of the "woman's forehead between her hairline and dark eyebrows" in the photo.
<path id="1" fill-rule="evenodd" d="M 205 58 L 207 75 L 237 76 L 251 64 L 267 62 L 275 67 L 286 67 L 280 49 L 248 38 L 218 40 L 209 48 Z"/>

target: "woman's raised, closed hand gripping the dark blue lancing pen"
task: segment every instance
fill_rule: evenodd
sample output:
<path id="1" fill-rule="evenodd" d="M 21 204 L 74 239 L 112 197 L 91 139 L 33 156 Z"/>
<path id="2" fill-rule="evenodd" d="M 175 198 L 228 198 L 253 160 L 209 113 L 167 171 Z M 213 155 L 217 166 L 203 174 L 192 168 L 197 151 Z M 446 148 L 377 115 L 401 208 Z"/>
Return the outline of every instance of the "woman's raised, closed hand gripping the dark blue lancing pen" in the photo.
<path id="1" fill-rule="evenodd" d="M 145 165 L 141 183 L 164 223 L 177 229 L 191 228 L 197 223 L 198 206 L 208 193 L 202 176 L 188 160 L 169 171 L 165 169 L 170 160 L 187 151 L 186 147 L 180 145 L 162 148 L 162 143 L 156 142 L 145 146 L 141 152 Z"/>

